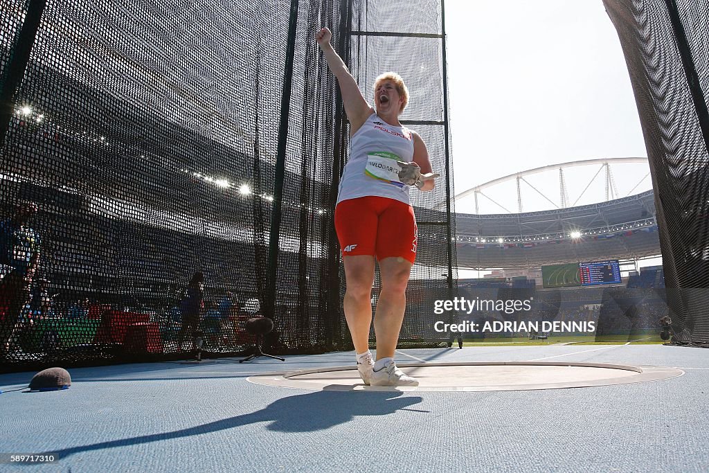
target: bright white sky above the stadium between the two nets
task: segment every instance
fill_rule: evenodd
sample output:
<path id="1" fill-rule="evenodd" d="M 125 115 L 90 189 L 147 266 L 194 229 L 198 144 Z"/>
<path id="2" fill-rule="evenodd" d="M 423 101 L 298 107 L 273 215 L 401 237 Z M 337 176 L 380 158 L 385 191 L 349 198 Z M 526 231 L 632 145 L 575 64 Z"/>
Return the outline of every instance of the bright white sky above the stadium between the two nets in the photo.
<path id="1" fill-rule="evenodd" d="M 526 169 L 647 157 L 618 34 L 601 0 L 445 1 L 456 194 Z M 564 170 L 571 202 L 600 166 Z M 612 166 L 618 191 L 651 188 L 647 165 Z M 579 203 L 605 200 L 603 173 Z M 559 201 L 559 174 L 530 184 Z M 517 211 L 515 182 L 486 192 Z M 524 211 L 554 208 L 523 183 Z M 554 200 L 554 199 L 552 199 Z M 503 212 L 479 199 L 481 213 Z M 474 212 L 474 199 L 456 202 Z"/>

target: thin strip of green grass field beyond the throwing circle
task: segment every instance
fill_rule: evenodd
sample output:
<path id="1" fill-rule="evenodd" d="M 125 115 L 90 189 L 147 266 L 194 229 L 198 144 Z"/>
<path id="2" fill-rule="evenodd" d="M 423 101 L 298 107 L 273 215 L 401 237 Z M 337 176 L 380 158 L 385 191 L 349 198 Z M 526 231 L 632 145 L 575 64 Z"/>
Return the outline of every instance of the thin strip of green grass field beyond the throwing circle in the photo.
<path id="1" fill-rule="evenodd" d="M 546 346 L 558 343 L 571 343 L 573 345 L 625 345 L 630 342 L 631 345 L 654 345 L 661 344 L 659 334 L 646 333 L 644 335 L 550 335 L 547 340 L 529 340 L 527 337 L 516 338 L 465 338 L 463 340 L 464 347 L 483 347 L 483 346 Z M 457 342 L 454 341 L 455 346 Z"/>

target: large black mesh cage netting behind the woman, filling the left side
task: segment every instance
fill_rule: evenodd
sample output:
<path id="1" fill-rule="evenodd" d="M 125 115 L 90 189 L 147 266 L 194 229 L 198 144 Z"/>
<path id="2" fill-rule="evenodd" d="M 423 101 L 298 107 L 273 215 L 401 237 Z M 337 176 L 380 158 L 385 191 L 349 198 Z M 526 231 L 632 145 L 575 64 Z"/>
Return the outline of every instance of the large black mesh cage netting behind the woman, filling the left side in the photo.
<path id="1" fill-rule="evenodd" d="M 440 3 L 416 23 L 386 7 L 398 28 L 435 38 L 369 43 L 352 33 L 364 7 L 348 2 L 2 5 L 5 367 L 245 352 L 255 316 L 274 321 L 271 352 L 351 348 L 333 225 L 347 126 L 321 26 L 363 88 L 379 70 L 368 57 L 398 68 L 413 96 L 405 118 L 426 122 L 411 128 L 442 184 L 414 196 L 402 341 L 440 343 L 422 335 L 455 267 Z M 376 49 L 392 41 L 415 60 Z"/>

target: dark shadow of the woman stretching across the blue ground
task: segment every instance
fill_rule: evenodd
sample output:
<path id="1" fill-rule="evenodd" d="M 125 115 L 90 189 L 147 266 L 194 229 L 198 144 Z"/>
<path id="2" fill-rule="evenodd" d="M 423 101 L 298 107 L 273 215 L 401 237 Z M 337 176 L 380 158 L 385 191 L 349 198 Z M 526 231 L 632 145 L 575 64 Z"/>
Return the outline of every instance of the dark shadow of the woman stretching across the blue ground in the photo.
<path id="1" fill-rule="evenodd" d="M 421 398 L 418 396 L 401 397 L 402 394 L 401 392 L 391 391 L 318 391 L 311 394 L 298 394 L 274 401 L 272 404 L 253 413 L 196 425 L 191 428 L 81 445 L 64 450 L 52 450 L 52 453 L 57 454 L 59 458 L 65 458 L 79 452 L 127 447 L 160 440 L 190 437 L 191 435 L 202 435 L 264 421 L 270 421 L 271 423 L 267 425 L 267 428 L 277 432 L 312 432 L 346 423 L 351 421 L 354 416 L 384 416 L 395 413 L 398 410 L 415 411 L 415 409 L 406 408 L 420 403 Z"/>

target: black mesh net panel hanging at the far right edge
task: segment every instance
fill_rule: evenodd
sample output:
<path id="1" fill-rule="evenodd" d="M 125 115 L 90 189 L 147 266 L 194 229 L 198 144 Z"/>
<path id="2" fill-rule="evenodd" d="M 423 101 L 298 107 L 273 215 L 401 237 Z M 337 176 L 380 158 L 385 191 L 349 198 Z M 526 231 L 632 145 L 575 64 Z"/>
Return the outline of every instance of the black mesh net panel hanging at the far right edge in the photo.
<path id="1" fill-rule="evenodd" d="M 604 3 L 640 112 L 672 342 L 709 346 L 709 6 L 696 0 Z"/>

